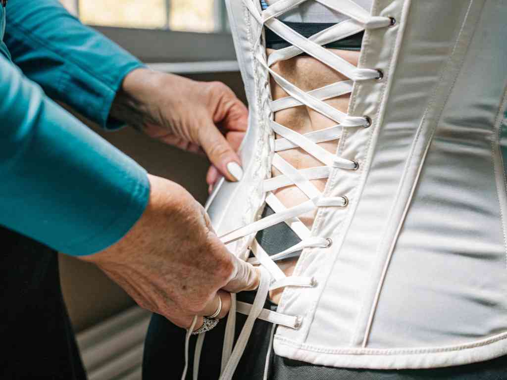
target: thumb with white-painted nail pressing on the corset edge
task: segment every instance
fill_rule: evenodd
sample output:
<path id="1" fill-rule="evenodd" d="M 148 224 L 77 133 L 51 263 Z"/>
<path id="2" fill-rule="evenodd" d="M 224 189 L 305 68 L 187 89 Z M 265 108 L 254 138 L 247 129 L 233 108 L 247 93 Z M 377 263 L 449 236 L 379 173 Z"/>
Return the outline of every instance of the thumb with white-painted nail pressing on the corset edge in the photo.
<path id="1" fill-rule="evenodd" d="M 199 130 L 199 145 L 206 152 L 209 161 L 230 181 L 243 177 L 243 169 L 234 149 L 214 124 Z"/>

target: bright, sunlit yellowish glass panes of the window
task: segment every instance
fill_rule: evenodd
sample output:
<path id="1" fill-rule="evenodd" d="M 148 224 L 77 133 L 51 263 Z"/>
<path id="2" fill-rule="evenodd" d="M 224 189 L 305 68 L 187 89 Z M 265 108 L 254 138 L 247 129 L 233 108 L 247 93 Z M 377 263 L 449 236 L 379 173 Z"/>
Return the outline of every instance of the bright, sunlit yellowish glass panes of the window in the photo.
<path id="1" fill-rule="evenodd" d="M 60 0 L 99 26 L 217 32 L 227 28 L 224 0 Z"/>

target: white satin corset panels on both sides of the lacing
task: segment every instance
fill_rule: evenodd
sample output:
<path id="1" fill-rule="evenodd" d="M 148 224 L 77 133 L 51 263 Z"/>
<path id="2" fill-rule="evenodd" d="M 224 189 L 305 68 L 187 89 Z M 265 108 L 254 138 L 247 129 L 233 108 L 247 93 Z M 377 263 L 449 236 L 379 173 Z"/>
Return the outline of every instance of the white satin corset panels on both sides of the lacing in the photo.
<path id="1" fill-rule="evenodd" d="M 259 218 L 274 145 L 269 77 L 252 52 L 259 26 L 229 3 L 250 115 L 245 176 L 207 205 L 219 235 Z M 363 40 L 359 67 L 384 79 L 356 82 L 348 114 L 373 124 L 340 139 L 337 155 L 360 167 L 332 169 L 324 196 L 349 204 L 319 209 L 312 236 L 333 245 L 304 249 L 294 275 L 317 286 L 284 290 L 277 312 L 302 323 L 277 327 L 274 350 L 386 369 L 505 355 L 507 2 L 375 0 L 371 12 L 396 19 Z M 228 247 L 246 259 L 252 238 Z"/>

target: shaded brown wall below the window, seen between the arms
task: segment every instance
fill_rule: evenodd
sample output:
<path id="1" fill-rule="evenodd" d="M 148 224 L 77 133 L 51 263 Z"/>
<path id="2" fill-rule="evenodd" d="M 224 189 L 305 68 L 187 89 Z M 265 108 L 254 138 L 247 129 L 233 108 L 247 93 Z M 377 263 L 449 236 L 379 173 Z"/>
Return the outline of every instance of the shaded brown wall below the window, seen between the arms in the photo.
<path id="1" fill-rule="evenodd" d="M 222 81 L 244 101 L 239 72 L 195 74 L 200 81 Z M 104 132 L 92 123 L 91 128 L 132 157 L 149 173 L 168 178 L 185 188 L 201 203 L 206 201 L 205 181 L 208 161 L 159 141 L 152 140 L 133 128 Z M 60 254 L 60 278 L 63 296 L 76 331 L 111 317 L 133 305 L 132 299 L 94 265 Z"/>

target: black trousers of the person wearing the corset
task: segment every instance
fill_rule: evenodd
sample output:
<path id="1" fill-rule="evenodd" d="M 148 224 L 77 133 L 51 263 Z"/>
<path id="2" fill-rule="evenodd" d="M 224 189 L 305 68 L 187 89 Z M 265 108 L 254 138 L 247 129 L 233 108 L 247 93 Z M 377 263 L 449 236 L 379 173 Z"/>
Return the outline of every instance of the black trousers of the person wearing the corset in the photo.
<path id="1" fill-rule="evenodd" d="M 237 297 L 252 303 L 255 292 L 238 293 Z M 276 309 L 269 300 L 264 307 Z M 246 316 L 236 315 L 236 339 L 245 320 Z M 223 319 L 206 333 L 199 380 L 217 380 L 220 377 L 225 324 L 226 319 Z M 401 370 L 325 367 L 286 359 L 276 355 L 272 348 L 269 350 L 271 326 L 271 323 L 259 319 L 255 322 L 234 380 L 262 380 L 268 355 L 268 380 L 507 380 L 507 356 L 453 367 Z M 185 364 L 184 342 L 184 329 L 154 314 L 144 345 L 143 380 L 179 380 Z M 196 337 L 192 336 L 186 380 L 192 380 L 195 343 Z"/>

